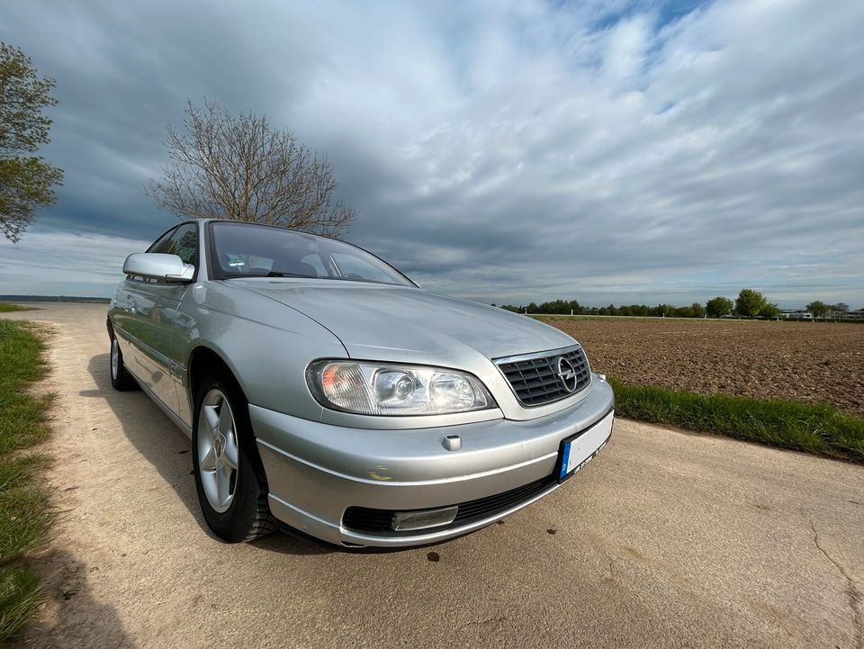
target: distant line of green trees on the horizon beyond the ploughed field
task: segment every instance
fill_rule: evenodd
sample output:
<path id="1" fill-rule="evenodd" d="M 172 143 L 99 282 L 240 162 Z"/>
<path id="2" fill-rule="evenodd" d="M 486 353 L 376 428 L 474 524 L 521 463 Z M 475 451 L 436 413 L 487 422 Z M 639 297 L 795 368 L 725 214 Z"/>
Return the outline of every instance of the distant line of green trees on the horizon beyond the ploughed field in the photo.
<path id="1" fill-rule="evenodd" d="M 492 304 L 492 306 L 498 306 Z M 781 311 L 777 304 L 770 302 L 762 293 L 751 288 L 745 288 L 733 301 L 727 297 L 717 296 L 708 300 L 704 305 L 693 302 L 689 306 L 673 306 L 671 304 L 626 304 L 616 306 L 609 304 L 603 307 L 582 306 L 576 300 L 554 300 L 537 304 L 531 302 L 526 305 L 516 306 L 514 304 L 501 304 L 501 309 L 514 311 L 516 313 L 548 313 L 552 315 L 621 315 L 641 316 L 649 318 L 725 318 L 733 316 L 738 318 L 764 318 L 772 319 L 779 317 Z M 849 305 L 842 302 L 838 304 L 826 304 L 825 302 L 810 302 L 806 307 L 815 318 L 824 318 L 828 313 L 846 313 Z"/>

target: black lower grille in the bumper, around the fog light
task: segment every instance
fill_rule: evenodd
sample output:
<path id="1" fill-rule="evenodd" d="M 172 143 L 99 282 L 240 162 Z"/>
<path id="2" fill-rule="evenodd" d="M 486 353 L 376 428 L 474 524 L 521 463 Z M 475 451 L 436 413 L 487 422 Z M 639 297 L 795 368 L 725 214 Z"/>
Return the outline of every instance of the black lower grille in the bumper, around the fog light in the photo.
<path id="1" fill-rule="evenodd" d="M 555 483 L 554 476 L 547 475 L 540 480 L 530 482 L 516 489 L 504 491 L 503 493 L 468 500 L 456 505 L 459 510 L 452 523 L 428 529 L 408 529 L 397 532 L 392 529 L 393 509 L 371 509 L 368 507 L 349 507 L 342 517 L 342 525 L 357 532 L 374 534 L 376 536 L 417 536 L 438 532 L 454 527 L 463 527 L 483 518 L 491 518 L 502 511 L 516 507 L 526 500 L 531 500 L 549 489 Z M 453 505 L 442 505 L 441 507 L 453 507 Z M 439 509 L 437 507 L 431 509 Z"/>

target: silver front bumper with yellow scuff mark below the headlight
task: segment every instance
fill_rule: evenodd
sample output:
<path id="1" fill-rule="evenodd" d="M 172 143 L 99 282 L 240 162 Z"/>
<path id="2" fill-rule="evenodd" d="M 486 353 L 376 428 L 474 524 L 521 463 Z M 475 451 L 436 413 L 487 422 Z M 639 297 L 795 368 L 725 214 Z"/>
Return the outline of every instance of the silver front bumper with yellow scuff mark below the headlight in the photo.
<path id="1" fill-rule="evenodd" d="M 345 428 L 249 406 L 270 489 L 270 508 L 287 525 L 337 545 L 423 545 L 460 536 L 505 518 L 558 487 L 561 442 L 607 415 L 612 388 L 594 376 L 590 394 L 572 408 L 527 421 L 495 419 L 445 428 Z M 462 449 L 447 451 L 446 435 Z M 596 451 L 599 440 L 589 452 Z M 464 525 L 370 534 L 346 527 L 346 509 L 447 507 L 541 486 L 524 500 Z"/>

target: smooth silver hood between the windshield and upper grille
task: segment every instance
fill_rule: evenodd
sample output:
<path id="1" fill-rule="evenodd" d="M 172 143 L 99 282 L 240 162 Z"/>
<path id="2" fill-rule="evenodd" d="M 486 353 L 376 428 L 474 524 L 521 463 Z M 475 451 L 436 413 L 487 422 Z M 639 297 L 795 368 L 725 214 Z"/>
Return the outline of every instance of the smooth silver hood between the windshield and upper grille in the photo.
<path id="1" fill-rule="evenodd" d="M 419 288 L 332 280 L 234 282 L 316 320 L 356 358 L 438 363 L 465 347 L 500 358 L 573 344 L 542 322 Z"/>

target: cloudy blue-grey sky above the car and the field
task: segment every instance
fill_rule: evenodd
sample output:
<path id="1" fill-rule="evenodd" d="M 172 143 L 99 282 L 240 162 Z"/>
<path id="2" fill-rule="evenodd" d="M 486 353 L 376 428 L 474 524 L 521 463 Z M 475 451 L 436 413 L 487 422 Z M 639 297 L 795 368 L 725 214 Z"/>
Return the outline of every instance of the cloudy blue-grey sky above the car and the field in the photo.
<path id="1" fill-rule="evenodd" d="M 326 153 L 348 239 L 483 302 L 864 307 L 864 3 L 10 0 L 58 203 L 0 293 L 108 295 L 187 99 Z"/>

